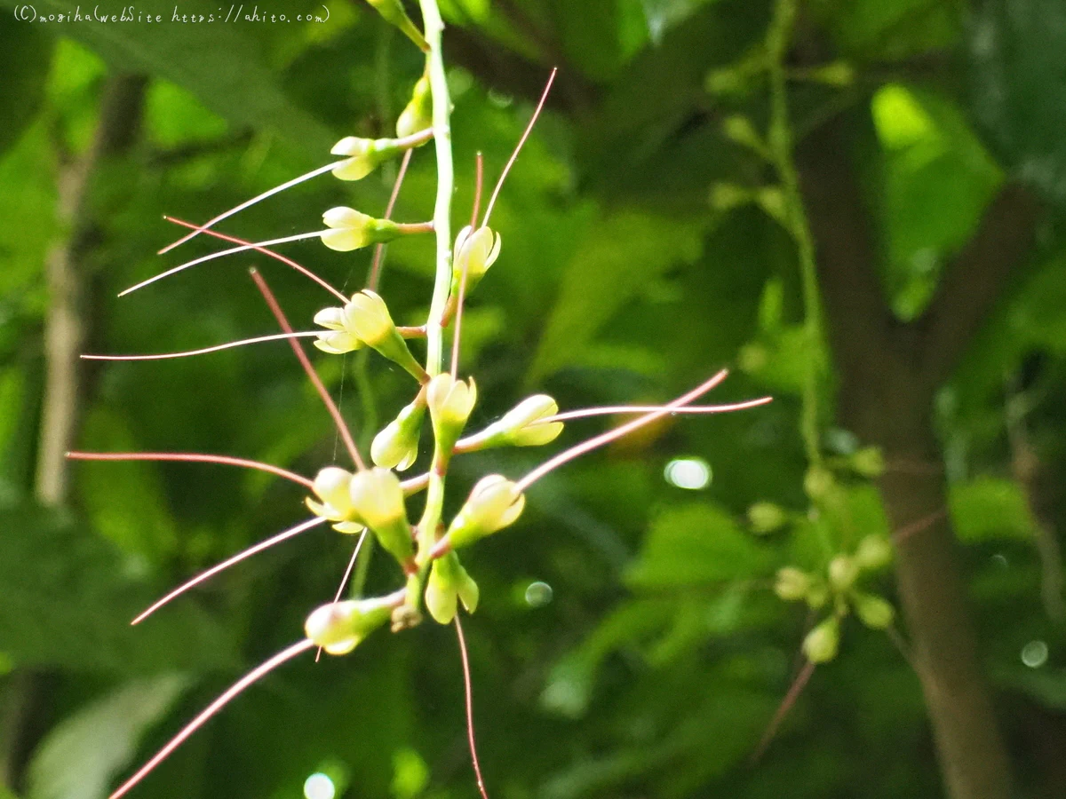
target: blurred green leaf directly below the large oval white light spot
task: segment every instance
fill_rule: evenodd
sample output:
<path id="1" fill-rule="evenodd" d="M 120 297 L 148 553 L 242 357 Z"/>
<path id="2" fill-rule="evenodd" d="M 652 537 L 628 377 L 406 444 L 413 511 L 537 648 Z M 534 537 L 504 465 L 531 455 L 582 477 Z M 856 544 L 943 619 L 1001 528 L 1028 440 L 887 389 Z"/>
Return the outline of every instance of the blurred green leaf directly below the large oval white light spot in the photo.
<path id="1" fill-rule="evenodd" d="M 626 582 L 633 588 L 702 585 L 756 577 L 772 562 L 770 552 L 726 510 L 690 504 L 669 508 L 652 522 Z"/>

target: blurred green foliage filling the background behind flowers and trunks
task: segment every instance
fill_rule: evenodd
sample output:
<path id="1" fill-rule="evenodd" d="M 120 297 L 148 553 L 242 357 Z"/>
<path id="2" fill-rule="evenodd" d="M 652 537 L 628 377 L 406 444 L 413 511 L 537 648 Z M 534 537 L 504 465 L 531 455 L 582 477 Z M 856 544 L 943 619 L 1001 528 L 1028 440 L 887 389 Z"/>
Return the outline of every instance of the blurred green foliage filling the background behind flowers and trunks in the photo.
<path id="1" fill-rule="evenodd" d="M 309 329 L 329 297 L 247 254 L 115 295 L 215 248 L 200 238 L 157 258 L 182 232 L 161 214 L 210 218 L 325 163 L 342 135 L 387 134 L 422 67 L 351 0 L 329 0 L 328 22 L 303 26 L 31 23 L 13 20 L 11 0 L 2 4 L 2 712 L 15 714 L 22 678 L 35 688 L 32 718 L 12 715 L 19 727 L 0 746 L 4 762 L 17 763 L 22 799 L 94 799 L 223 686 L 300 636 L 305 614 L 333 596 L 351 544 L 317 529 L 127 625 L 176 582 L 298 521 L 303 498 L 284 482 L 222 467 L 78 463 L 68 510 L 34 504 L 45 265 L 70 234 L 56 222 L 59 176 L 90 147 L 107 76 L 148 76 L 139 140 L 92 176 L 95 232 L 81 263 L 92 292 L 88 350 L 168 352 L 274 332 L 245 273 L 252 263 L 296 328 Z M 47 0 L 38 12 L 76 5 Z M 776 569 L 824 570 L 827 555 L 888 533 L 876 491 L 850 466 L 863 442 L 831 422 L 831 382 L 820 391 L 834 511 L 807 512 L 801 394 L 809 364 L 831 354 L 802 327 L 796 257 L 773 178 L 725 130 L 736 115 L 753 129 L 766 123 L 759 60 L 770 3 L 441 5 L 454 55 L 457 219 L 470 208 L 474 153 L 495 179 L 548 68 L 562 70 L 494 213 L 503 255 L 465 316 L 463 371 L 477 375 L 483 397 L 471 427 L 531 390 L 549 391 L 564 409 L 658 403 L 723 365 L 737 369 L 715 401 L 775 395 L 740 414 L 671 419 L 552 474 L 530 491 L 518 525 L 466 557 L 482 587 L 466 629 L 490 795 L 941 795 L 917 679 L 888 636 L 853 619 L 840 656 L 819 667 L 752 760 L 809 626 L 803 608 L 773 594 Z M 1004 180 L 1032 185 L 1055 213 L 1066 196 L 1061 3 L 964 5 L 804 4 L 800 30 L 818 68 L 797 64 L 791 76 L 795 135 L 841 109 L 869 117 L 876 268 L 901 322 L 926 308 Z M 194 0 L 181 11 L 217 13 Z M 355 184 L 319 178 L 220 229 L 265 240 L 316 229 L 335 205 L 379 213 L 394 175 L 389 165 Z M 395 217 L 429 218 L 434 185 L 432 156 L 419 151 Z M 431 246 L 389 248 L 382 293 L 400 324 L 424 320 Z M 313 241 L 285 251 L 349 292 L 365 281 L 368 254 Z M 1059 586 L 1061 605 L 1066 268 L 1053 215 L 1032 261 L 939 392 L 936 423 L 1022 795 L 1054 797 L 1064 784 L 1066 631 L 1048 586 L 1052 594 Z M 317 363 L 364 446 L 408 399 L 404 375 L 381 359 Z M 285 344 L 85 364 L 83 377 L 80 449 L 220 453 L 309 474 L 343 453 Z M 556 446 L 604 424 L 575 422 Z M 1038 460 L 1038 485 L 1019 479 L 1023 454 Z M 698 491 L 671 485 L 663 469 L 675 456 L 706 459 L 713 480 Z M 518 475 L 532 458 L 471 455 L 453 480 Z M 759 502 L 782 508 L 788 528 L 753 529 L 746 512 Z M 377 558 L 368 586 L 395 577 Z M 534 581 L 550 585 L 550 603 L 524 599 Z M 872 587 L 892 596 L 887 576 Z M 1020 656 L 1032 641 L 1047 645 L 1035 666 Z M 285 799 L 321 771 L 338 796 L 468 797 L 465 736 L 454 635 L 424 624 L 378 634 L 345 658 L 288 666 L 135 796 Z"/>

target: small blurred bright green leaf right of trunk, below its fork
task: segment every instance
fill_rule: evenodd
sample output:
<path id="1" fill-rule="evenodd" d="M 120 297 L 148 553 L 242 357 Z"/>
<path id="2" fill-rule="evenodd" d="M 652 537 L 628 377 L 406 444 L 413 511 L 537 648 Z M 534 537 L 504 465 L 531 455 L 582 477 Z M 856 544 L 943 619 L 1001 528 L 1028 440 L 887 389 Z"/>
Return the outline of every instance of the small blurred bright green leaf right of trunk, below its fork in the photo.
<path id="1" fill-rule="evenodd" d="M 951 518 L 968 543 L 1033 536 L 1033 517 L 1021 487 L 999 477 L 975 477 L 951 487 Z"/>

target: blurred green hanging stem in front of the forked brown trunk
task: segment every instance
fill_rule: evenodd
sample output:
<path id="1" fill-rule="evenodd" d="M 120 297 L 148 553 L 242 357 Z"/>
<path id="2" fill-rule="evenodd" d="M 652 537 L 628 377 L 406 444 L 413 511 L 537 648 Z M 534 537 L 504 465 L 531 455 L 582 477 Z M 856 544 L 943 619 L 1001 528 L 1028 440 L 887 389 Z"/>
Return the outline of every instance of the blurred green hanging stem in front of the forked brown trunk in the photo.
<path id="1" fill-rule="evenodd" d="M 796 0 L 778 0 L 774 18 L 766 34 L 770 55 L 770 151 L 785 193 L 789 232 L 796 243 L 800 275 L 803 283 L 804 329 L 811 356 L 807 361 L 804 379 L 801 434 L 807 459 L 820 466 L 822 452 L 819 446 L 818 380 L 820 360 L 814 356 L 822 347 L 822 308 L 818 291 L 818 271 L 814 261 L 814 240 L 810 232 L 807 213 L 800 195 L 800 178 L 792 159 L 792 126 L 789 121 L 788 72 L 785 59 L 796 16 Z"/>

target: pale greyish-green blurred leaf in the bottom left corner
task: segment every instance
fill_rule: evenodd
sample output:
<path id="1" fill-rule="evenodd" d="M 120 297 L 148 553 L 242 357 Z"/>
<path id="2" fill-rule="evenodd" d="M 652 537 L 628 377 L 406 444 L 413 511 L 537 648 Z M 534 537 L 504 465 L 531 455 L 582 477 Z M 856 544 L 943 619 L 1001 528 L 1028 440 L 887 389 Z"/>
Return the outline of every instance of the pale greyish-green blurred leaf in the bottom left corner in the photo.
<path id="1" fill-rule="evenodd" d="M 180 674 L 127 683 L 52 728 L 30 762 L 27 799 L 99 799 L 189 686 Z"/>

